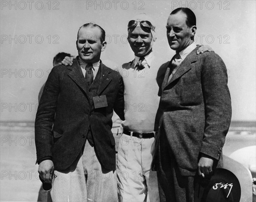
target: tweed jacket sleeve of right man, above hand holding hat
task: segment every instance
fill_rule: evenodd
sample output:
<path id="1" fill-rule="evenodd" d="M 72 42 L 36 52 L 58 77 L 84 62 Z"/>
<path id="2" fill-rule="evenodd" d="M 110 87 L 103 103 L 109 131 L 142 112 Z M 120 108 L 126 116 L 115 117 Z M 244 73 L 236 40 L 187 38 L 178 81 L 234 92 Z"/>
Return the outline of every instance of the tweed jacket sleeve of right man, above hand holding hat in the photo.
<path id="1" fill-rule="evenodd" d="M 218 160 L 231 121 L 227 68 L 215 53 L 205 53 L 202 57 L 201 85 L 206 121 L 201 153 Z"/>

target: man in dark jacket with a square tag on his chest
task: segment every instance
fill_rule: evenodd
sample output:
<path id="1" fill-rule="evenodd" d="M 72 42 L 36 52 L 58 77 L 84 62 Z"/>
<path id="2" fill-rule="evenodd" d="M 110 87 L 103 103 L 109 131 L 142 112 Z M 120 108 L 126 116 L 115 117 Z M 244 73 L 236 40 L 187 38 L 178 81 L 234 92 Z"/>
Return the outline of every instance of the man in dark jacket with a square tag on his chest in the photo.
<path id="1" fill-rule="evenodd" d="M 78 31 L 79 56 L 55 66 L 35 119 L 38 172 L 51 182 L 53 201 L 117 201 L 113 109 L 124 119 L 123 81 L 100 60 L 105 31 L 87 23 Z M 53 127 L 52 127 L 53 126 Z"/>

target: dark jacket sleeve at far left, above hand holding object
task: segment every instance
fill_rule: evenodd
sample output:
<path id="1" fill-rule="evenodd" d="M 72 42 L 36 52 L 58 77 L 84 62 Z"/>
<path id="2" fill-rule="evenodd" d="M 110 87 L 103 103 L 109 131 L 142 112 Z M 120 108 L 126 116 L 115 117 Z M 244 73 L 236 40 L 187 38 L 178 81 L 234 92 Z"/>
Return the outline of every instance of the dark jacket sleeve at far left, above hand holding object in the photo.
<path id="1" fill-rule="evenodd" d="M 36 162 L 46 156 L 52 157 L 52 125 L 55 117 L 58 94 L 59 77 L 57 68 L 53 68 L 44 86 L 35 117 Z"/>

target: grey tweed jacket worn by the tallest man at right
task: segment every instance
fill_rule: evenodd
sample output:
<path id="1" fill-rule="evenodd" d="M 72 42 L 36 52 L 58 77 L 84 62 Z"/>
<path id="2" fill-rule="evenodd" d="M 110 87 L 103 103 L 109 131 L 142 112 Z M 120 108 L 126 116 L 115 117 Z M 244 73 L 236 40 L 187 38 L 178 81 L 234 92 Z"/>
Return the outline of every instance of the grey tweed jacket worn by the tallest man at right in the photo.
<path id="1" fill-rule="evenodd" d="M 169 82 L 169 62 L 163 65 L 166 75 L 160 99 L 162 117 L 157 147 L 169 148 L 185 176 L 195 174 L 200 153 L 218 162 L 231 120 L 224 62 L 213 52 L 197 55 L 197 49 L 180 63 Z M 167 141 L 159 141 L 161 136 L 166 136 Z M 161 154 L 156 154 L 154 162 L 157 155 Z"/>

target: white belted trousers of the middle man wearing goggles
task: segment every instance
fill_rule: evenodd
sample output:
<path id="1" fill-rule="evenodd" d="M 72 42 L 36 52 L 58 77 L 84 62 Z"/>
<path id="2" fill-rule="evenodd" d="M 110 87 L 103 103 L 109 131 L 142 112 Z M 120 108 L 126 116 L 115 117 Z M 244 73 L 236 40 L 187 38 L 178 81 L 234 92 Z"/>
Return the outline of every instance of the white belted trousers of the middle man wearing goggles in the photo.
<path id="1" fill-rule="evenodd" d="M 122 134 L 117 154 L 119 202 L 159 202 L 157 172 L 151 171 L 154 137 Z"/>

